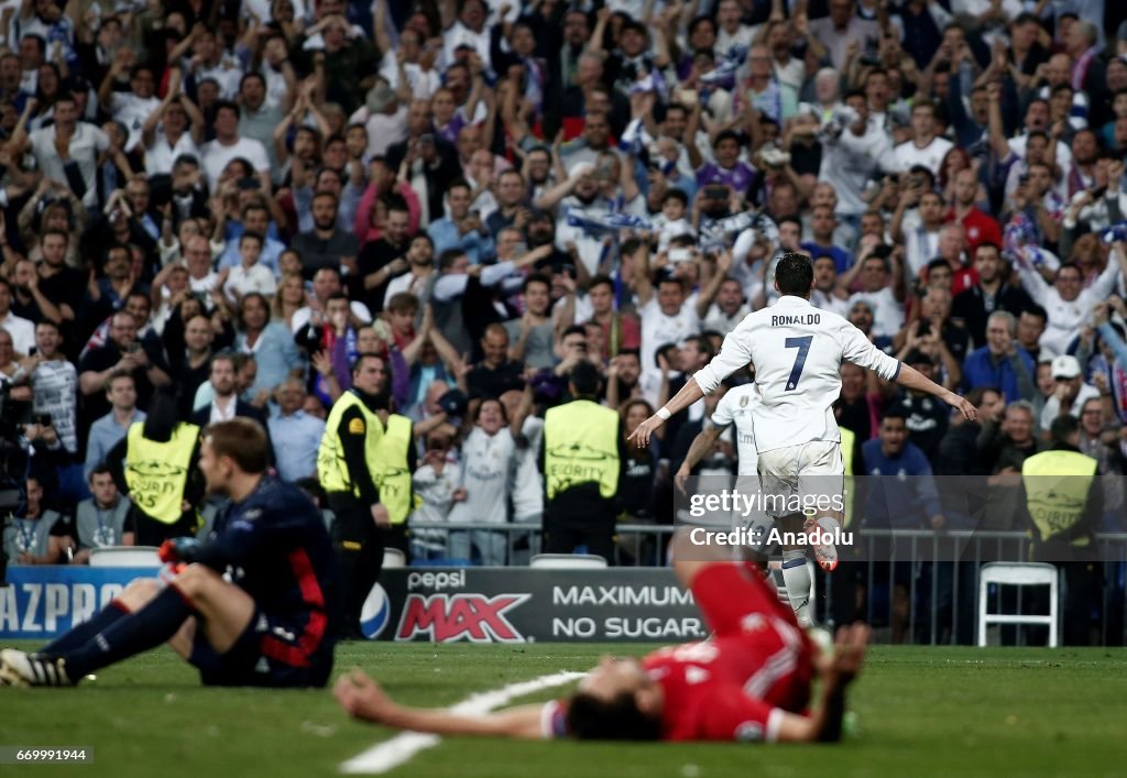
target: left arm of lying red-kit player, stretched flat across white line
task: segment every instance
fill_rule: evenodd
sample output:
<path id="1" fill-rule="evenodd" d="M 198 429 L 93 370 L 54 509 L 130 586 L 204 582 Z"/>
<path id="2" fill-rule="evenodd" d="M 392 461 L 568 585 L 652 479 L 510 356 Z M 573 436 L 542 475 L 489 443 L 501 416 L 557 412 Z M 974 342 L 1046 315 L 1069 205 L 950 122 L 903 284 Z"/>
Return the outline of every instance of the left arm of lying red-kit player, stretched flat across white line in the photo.
<path id="1" fill-rule="evenodd" d="M 464 716 L 442 708 L 409 708 L 388 697 L 379 683 L 358 670 L 341 675 L 332 689 L 332 695 L 353 718 L 396 730 L 429 732 L 436 735 L 525 740 L 543 737 L 540 726 L 543 705 L 525 705 L 478 716 Z"/>

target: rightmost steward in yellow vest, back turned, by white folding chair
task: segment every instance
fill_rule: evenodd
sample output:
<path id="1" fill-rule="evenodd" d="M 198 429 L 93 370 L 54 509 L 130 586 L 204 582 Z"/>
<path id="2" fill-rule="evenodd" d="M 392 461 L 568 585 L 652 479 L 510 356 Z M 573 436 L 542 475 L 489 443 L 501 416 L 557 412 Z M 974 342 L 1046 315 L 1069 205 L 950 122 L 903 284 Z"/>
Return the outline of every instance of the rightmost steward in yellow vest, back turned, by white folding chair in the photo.
<path id="1" fill-rule="evenodd" d="M 1021 466 L 1022 504 L 1033 538 L 1032 559 L 1054 563 L 1064 575 L 1062 642 L 1086 646 L 1092 640 L 1092 593 L 1099 591 L 1092 534 L 1103 514 L 1103 484 L 1099 462 L 1080 451 L 1075 416 L 1057 416 L 1049 435 L 1053 448 Z"/>

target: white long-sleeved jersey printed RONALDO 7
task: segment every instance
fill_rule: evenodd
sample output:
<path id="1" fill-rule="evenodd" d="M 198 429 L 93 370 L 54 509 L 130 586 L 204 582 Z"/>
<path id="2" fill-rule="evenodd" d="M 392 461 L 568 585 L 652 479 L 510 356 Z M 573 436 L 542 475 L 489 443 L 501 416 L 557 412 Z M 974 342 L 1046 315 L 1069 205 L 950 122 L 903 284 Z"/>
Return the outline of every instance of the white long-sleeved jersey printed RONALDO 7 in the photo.
<path id="1" fill-rule="evenodd" d="M 792 295 L 749 313 L 724 338 L 720 353 L 696 372 L 709 394 L 744 365 L 755 369 L 760 401 L 749 404 L 758 453 L 810 441 L 840 441 L 833 403 L 841 394 L 842 361 L 886 380 L 899 361 L 872 345 L 846 319 Z"/>

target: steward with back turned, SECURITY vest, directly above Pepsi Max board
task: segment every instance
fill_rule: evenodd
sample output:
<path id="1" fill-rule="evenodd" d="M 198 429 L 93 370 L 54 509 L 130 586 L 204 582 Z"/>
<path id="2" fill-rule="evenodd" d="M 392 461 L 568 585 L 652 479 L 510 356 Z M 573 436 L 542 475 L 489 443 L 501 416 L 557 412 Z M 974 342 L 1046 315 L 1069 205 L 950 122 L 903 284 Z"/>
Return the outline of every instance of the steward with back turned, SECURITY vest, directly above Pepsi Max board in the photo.
<path id="1" fill-rule="evenodd" d="M 586 546 L 614 559 L 614 518 L 625 436 L 619 414 L 598 405 L 600 375 L 589 362 L 571 370 L 577 399 L 544 414 L 540 470 L 544 475 L 544 551 Z"/>

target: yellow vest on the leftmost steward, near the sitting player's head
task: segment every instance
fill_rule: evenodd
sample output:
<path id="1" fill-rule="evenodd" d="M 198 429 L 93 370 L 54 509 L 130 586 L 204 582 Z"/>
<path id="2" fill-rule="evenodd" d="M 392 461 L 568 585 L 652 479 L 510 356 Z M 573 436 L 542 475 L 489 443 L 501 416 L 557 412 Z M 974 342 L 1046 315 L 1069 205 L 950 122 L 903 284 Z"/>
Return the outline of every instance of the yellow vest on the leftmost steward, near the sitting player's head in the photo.
<path id="1" fill-rule="evenodd" d="M 125 484 L 130 487 L 130 499 L 145 515 L 162 524 L 175 524 L 184 515 L 184 489 L 199 427 L 177 424 L 172 436 L 160 443 L 144 436 L 144 422 L 134 422 L 125 437 Z"/>

